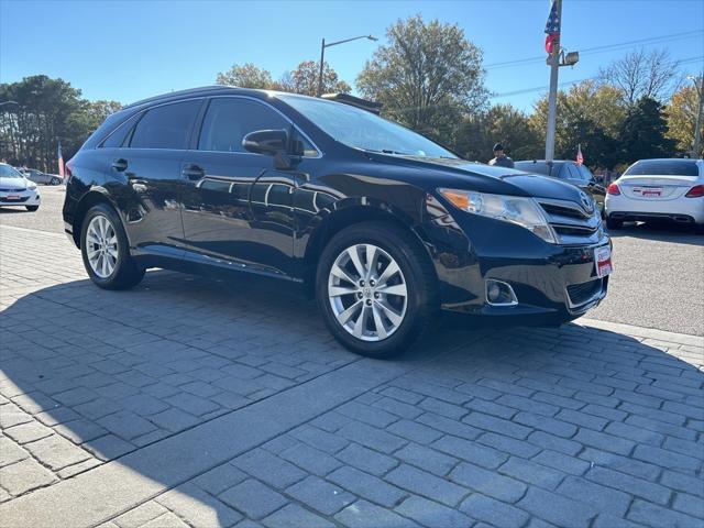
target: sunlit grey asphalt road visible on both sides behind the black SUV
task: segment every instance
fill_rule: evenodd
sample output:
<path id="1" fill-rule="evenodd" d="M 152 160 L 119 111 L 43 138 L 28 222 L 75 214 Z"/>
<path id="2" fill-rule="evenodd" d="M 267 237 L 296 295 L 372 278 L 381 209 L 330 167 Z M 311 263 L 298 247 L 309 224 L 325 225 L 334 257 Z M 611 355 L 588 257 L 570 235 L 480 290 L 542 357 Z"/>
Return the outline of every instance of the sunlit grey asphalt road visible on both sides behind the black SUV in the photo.
<path id="1" fill-rule="evenodd" d="M 64 187 L 42 187 L 42 207 L 0 209 L 0 224 L 63 232 Z M 609 294 L 586 317 L 704 336 L 704 237 L 676 227 L 615 231 Z"/>

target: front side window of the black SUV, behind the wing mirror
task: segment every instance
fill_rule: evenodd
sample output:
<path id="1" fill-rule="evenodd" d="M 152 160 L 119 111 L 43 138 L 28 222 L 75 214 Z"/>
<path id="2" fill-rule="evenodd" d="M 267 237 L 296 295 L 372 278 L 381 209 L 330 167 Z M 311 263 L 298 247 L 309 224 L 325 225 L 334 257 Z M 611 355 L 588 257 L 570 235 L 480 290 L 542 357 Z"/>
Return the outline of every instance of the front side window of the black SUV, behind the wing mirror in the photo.
<path id="1" fill-rule="evenodd" d="M 289 130 L 278 112 L 251 99 L 213 99 L 200 130 L 198 150 L 246 152 L 242 139 L 255 130 Z"/>

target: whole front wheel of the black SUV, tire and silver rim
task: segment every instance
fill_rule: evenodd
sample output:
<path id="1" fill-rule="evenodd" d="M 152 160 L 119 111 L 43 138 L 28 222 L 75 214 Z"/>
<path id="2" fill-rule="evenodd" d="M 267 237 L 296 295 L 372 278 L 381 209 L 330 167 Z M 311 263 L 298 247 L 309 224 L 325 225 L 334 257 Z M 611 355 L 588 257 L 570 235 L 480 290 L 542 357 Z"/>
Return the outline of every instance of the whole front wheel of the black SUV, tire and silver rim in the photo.
<path id="1" fill-rule="evenodd" d="M 367 266 L 370 254 L 376 265 Z M 384 293 L 391 288 L 393 294 Z M 337 233 L 323 249 L 316 274 L 316 298 L 330 332 L 353 352 L 377 359 L 405 352 L 432 323 L 437 290 L 420 242 L 384 222 L 359 223 Z"/>

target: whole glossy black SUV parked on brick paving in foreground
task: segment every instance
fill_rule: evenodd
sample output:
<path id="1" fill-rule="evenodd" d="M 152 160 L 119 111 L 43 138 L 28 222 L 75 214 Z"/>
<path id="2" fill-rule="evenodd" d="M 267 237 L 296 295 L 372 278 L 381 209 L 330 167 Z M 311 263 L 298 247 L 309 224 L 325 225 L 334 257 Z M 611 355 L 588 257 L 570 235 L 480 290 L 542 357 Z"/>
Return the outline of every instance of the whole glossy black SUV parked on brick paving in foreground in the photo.
<path id="1" fill-rule="evenodd" d="M 341 102 L 233 87 L 140 101 L 67 164 L 66 232 L 107 289 L 148 267 L 300 283 L 334 337 L 405 350 L 438 309 L 559 324 L 606 295 L 593 200 Z"/>

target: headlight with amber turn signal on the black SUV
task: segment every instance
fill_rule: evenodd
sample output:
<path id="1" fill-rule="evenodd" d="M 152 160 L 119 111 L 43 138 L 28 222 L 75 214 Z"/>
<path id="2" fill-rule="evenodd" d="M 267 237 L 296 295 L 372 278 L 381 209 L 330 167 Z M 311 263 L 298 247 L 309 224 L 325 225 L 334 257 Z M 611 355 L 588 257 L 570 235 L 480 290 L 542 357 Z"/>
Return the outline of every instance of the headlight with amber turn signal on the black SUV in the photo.
<path id="1" fill-rule="evenodd" d="M 526 228 L 546 242 L 557 244 L 558 239 L 548 223 L 542 208 L 532 198 L 488 195 L 473 190 L 438 189 L 454 207 L 473 215 L 512 222 Z"/>

